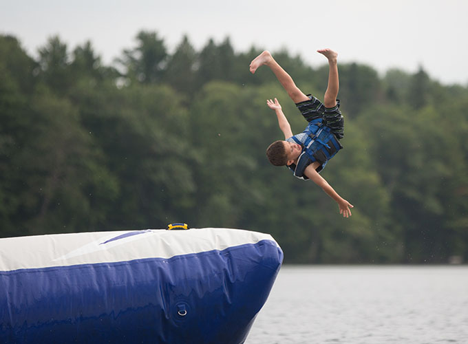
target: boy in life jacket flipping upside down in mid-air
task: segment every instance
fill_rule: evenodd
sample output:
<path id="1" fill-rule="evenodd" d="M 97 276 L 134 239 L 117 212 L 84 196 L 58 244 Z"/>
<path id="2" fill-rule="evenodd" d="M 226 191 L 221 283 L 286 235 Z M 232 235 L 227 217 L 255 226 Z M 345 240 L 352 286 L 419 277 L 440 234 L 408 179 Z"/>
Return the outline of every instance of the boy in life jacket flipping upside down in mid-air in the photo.
<path id="1" fill-rule="evenodd" d="M 284 116 L 278 100 L 266 100 L 270 109 L 275 110 L 279 129 L 283 131 L 285 140 L 278 140 L 266 149 L 268 160 L 275 166 L 288 166 L 297 178 L 310 179 L 319 185 L 332 199 L 338 203 L 339 212 L 343 217 L 351 216 L 352 204 L 344 200 L 328 182 L 319 175 L 326 163 L 341 149 L 339 139 L 343 138 L 343 116 L 339 111 L 337 100 L 339 89 L 337 57 L 330 49 L 317 50 L 328 58 L 328 87 L 323 98 L 323 104 L 314 96 L 306 96 L 295 85 L 288 73 L 275 61 L 270 52 L 259 54 L 250 65 L 251 73 L 262 65 L 270 67 L 279 83 L 294 101 L 309 125 L 302 133 L 292 136 L 291 127 Z"/>

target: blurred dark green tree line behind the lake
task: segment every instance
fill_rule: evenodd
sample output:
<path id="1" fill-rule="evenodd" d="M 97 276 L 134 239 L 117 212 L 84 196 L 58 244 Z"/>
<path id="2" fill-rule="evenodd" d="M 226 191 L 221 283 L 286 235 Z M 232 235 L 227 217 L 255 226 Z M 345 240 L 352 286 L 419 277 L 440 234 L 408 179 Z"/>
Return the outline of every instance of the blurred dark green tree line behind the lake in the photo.
<path id="1" fill-rule="evenodd" d="M 306 125 L 261 52 L 228 38 L 169 52 L 157 32 L 105 65 L 89 41 L 60 37 L 33 58 L 0 36 L 0 236 L 229 227 L 271 233 L 289 263 L 446 263 L 468 259 L 468 90 L 421 67 L 379 76 L 339 64 L 345 137 L 323 176 L 352 217 L 312 182 L 271 166 Z M 273 52 L 299 88 L 323 98 L 328 67 Z"/>

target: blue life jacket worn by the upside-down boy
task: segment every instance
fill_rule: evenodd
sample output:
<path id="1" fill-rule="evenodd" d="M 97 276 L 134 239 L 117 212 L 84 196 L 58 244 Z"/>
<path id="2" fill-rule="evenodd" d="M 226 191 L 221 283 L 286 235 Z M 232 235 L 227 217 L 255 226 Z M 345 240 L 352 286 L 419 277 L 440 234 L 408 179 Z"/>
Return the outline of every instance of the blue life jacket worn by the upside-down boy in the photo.
<path id="1" fill-rule="evenodd" d="M 343 148 L 339 140 L 334 133 L 331 132 L 330 127 L 320 123 L 310 123 L 306 130 L 304 130 L 308 136 L 304 142 L 299 141 L 295 136 L 292 136 L 292 140 L 296 143 L 301 144 L 302 151 L 297 159 L 297 164 L 290 164 L 288 168 L 294 172 L 295 177 L 307 180 L 308 178 L 304 175 L 306 167 L 312 164 L 312 162 L 320 162 L 320 166 L 317 167 L 316 171 L 321 172 L 328 160 L 334 157 L 334 155 Z"/>

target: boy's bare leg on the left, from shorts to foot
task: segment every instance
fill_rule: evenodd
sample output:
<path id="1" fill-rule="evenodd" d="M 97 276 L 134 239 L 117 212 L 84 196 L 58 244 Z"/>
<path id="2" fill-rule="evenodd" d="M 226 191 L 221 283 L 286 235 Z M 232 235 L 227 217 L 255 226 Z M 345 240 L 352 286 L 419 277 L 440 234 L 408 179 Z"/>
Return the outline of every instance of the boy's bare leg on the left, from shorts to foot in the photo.
<path id="1" fill-rule="evenodd" d="M 270 52 L 266 50 L 254 58 L 254 60 L 251 62 L 251 73 L 254 74 L 258 67 L 262 65 L 270 67 L 279 83 L 281 83 L 281 86 L 283 86 L 286 92 L 288 92 L 289 97 L 294 103 L 300 103 L 309 100 L 309 97 L 302 93 L 290 75 L 286 73 L 286 71 L 275 61 L 273 56 L 271 56 Z"/>

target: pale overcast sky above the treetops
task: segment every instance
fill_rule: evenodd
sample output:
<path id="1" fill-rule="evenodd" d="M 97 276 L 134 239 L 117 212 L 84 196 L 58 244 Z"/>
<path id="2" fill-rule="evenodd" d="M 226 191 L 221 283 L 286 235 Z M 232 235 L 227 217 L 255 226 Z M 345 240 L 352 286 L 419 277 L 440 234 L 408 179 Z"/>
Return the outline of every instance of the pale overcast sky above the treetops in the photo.
<path id="1" fill-rule="evenodd" d="M 331 47 L 342 62 L 416 72 L 468 85 L 466 0 L 0 0 L 0 34 L 36 56 L 58 34 L 70 51 L 89 40 L 104 63 L 154 30 L 169 52 L 187 34 L 197 50 L 226 36 L 237 52 L 286 48 L 316 67 Z M 248 67 L 248 66 L 246 66 Z"/>

